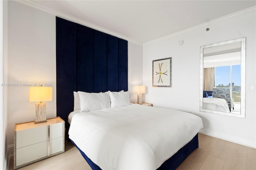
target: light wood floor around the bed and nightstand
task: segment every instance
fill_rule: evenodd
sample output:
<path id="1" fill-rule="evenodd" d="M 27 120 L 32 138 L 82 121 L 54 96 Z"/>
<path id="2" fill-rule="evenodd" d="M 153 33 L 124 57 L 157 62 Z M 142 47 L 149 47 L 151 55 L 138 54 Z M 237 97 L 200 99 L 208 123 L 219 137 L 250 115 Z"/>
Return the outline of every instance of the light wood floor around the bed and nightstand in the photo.
<path id="1" fill-rule="evenodd" d="M 177 170 L 256 170 L 256 149 L 198 134 L 199 148 Z M 9 170 L 13 170 L 13 157 Z M 24 166 L 19 170 L 91 170 L 72 142 L 65 152 Z"/>

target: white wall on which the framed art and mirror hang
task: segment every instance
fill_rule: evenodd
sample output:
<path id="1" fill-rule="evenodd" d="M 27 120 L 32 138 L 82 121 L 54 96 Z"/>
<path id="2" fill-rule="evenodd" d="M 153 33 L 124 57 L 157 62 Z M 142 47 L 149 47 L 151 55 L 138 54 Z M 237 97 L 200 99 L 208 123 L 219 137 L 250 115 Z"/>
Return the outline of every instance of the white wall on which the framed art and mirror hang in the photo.
<path id="1" fill-rule="evenodd" d="M 253 13 L 198 27 L 143 45 L 143 84 L 148 87 L 144 100 L 156 107 L 187 111 L 203 119 L 201 132 L 256 147 L 256 92 L 246 90 L 246 118 L 199 111 L 200 46 L 246 37 L 246 85 L 256 79 L 256 18 Z M 206 32 L 206 28 L 210 31 Z M 179 45 L 179 40 L 184 40 Z M 172 88 L 152 87 L 152 60 L 172 57 Z"/>

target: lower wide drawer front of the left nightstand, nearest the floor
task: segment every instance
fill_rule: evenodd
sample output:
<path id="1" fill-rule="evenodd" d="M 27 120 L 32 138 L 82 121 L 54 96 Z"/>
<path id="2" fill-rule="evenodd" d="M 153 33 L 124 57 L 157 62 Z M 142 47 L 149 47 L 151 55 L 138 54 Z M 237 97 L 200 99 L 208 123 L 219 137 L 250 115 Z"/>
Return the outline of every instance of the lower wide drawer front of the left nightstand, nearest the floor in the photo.
<path id="1" fill-rule="evenodd" d="M 16 166 L 32 162 L 48 155 L 48 142 L 40 142 L 16 149 Z"/>

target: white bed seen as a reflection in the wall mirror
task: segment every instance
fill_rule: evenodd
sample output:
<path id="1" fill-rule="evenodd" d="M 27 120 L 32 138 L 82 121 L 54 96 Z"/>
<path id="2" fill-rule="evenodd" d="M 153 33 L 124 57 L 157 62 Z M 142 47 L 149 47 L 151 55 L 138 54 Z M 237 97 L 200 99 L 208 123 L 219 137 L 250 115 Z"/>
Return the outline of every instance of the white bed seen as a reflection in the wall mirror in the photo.
<path id="1" fill-rule="evenodd" d="M 203 98 L 203 109 L 217 112 L 230 113 L 228 103 L 221 98 Z"/>

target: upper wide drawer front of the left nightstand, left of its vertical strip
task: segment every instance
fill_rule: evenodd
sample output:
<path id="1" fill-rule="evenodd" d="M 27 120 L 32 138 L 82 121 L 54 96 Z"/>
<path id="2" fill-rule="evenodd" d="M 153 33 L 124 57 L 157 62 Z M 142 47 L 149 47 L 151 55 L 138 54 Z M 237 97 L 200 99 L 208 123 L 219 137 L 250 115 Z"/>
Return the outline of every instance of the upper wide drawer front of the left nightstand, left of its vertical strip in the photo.
<path id="1" fill-rule="evenodd" d="M 16 148 L 48 140 L 48 126 L 16 131 Z"/>

